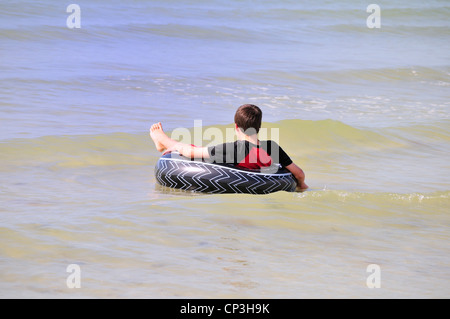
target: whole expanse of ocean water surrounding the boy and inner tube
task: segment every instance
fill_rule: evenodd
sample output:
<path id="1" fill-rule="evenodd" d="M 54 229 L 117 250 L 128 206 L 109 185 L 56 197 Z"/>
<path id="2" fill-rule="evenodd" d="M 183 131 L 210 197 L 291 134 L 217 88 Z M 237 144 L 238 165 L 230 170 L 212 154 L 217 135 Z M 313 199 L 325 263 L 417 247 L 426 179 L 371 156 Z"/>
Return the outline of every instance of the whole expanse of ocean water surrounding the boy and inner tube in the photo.
<path id="1" fill-rule="evenodd" d="M 0 3 L 0 297 L 450 296 L 448 1 L 76 3 Z M 308 191 L 156 184 L 152 123 L 244 103 Z"/>

